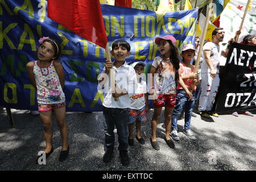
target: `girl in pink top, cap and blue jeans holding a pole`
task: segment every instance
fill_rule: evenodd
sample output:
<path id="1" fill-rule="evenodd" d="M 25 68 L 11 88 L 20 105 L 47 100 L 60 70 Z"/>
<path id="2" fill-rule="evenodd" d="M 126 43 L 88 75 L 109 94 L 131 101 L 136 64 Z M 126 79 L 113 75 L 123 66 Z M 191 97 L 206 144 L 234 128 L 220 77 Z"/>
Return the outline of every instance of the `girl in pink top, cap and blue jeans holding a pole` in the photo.
<path id="1" fill-rule="evenodd" d="M 191 114 L 193 110 L 193 106 L 195 105 L 195 92 L 196 92 L 196 85 L 199 84 L 199 78 L 197 73 L 193 73 L 195 68 L 194 65 L 190 64 L 193 57 L 195 57 L 195 47 L 192 44 L 187 44 L 183 47 L 181 56 L 183 58 L 183 63 L 181 66 L 181 73 L 180 77 L 183 79 L 184 84 L 187 86 L 188 89 L 191 88 L 191 84 L 193 84 L 193 92 L 192 92 L 192 100 L 186 96 L 185 90 L 180 86 L 177 85 L 177 92 L 176 92 L 176 104 L 174 107 L 174 111 L 172 113 L 172 125 L 171 125 L 171 137 L 174 140 L 180 140 L 177 136 L 177 119 L 179 118 L 183 108 L 185 110 L 185 125 L 183 133 L 187 135 L 190 139 L 195 140 L 196 137 L 193 136 L 191 133 Z"/>

